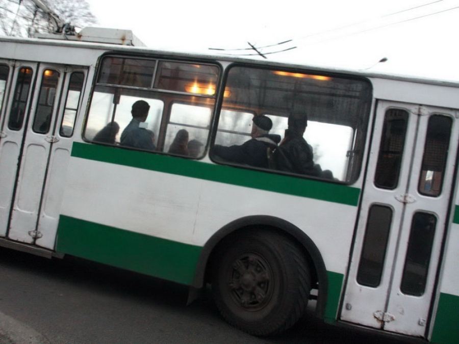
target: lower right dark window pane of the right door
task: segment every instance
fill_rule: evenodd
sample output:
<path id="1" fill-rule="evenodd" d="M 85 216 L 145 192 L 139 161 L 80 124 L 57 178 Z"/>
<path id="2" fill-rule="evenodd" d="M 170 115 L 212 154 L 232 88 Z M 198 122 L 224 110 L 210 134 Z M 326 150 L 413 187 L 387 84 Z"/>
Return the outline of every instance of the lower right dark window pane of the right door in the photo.
<path id="1" fill-rule="evenodd" d="M 424 294 L 436 225 L 437 218 L 432 214 L 419 211 L 413 216 L 400 285 L 404 294 Z"/>

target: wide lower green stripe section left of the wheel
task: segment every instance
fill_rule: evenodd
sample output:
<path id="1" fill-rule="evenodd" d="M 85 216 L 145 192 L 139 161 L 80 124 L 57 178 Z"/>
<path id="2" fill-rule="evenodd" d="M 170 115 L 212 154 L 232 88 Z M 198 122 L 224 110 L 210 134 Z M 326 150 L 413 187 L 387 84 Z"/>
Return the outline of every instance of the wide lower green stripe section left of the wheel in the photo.
<path id="1" fill-rule="evenodd" d="M 191 284 L 201 247 L 60 216 L 56 251 Z"/>

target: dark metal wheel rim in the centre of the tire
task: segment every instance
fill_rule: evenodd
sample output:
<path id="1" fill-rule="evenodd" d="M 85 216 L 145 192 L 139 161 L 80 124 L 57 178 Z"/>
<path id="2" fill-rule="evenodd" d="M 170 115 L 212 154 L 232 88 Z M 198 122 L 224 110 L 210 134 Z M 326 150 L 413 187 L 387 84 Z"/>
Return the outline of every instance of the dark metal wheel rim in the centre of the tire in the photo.
<path id="1" fill-rule="evenodd" d="M 271 267 L 257 253 L 245 253 L 228 269 L 228 287 L 234 303 L 249 311 L 258 311 L 269 304 L 273 294 Z"/>

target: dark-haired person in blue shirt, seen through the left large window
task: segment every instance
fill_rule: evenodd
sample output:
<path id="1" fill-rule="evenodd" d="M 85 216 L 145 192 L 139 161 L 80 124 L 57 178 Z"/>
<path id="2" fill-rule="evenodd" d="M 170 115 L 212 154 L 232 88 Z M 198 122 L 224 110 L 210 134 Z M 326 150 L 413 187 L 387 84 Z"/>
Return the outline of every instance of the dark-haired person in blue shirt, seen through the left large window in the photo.
<path id="1" fill-rule="evenodd" d="M 120 144 L 125 147 L 155 150 L 151 138 L 151 131 L 141 127 L 140 123 L 146 121 L 150 105 L 145 100 L 137 100 L 132 105 L 132 120 L 121 133 Z"/>

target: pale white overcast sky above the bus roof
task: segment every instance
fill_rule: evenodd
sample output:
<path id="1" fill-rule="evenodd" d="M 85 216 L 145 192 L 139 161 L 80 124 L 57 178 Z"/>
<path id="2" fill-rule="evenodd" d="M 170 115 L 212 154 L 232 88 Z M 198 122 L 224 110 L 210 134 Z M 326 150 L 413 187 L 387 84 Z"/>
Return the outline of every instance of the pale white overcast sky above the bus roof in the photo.
<path id="1" fill-rule="evenodd" d="M 278 49 L 297 48 L 267 55 L 269 60 L 365 69 L 387 57 L 372 70 L 459 81 L 459 0 L 88 3 L 98 26 L 130 29 L 154 48 L 212 54 L 208 48 L 292 39 Z"/>

